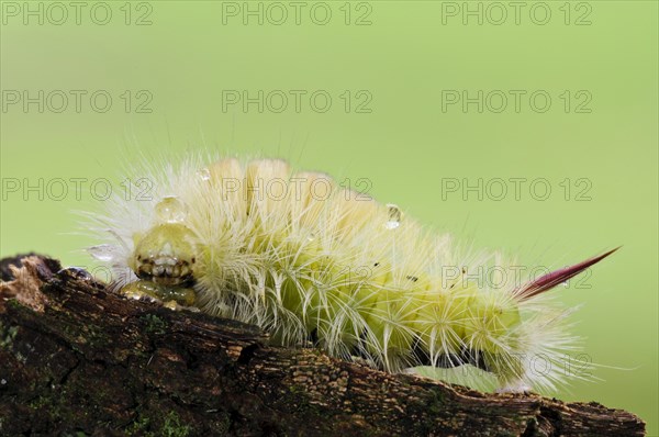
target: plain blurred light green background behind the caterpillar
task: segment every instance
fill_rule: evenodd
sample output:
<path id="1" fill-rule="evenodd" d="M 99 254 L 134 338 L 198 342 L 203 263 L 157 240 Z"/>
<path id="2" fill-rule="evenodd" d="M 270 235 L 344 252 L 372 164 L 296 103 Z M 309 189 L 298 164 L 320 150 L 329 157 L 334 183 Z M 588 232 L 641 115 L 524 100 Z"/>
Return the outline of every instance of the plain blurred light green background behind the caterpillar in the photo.
<path id="1" fill-rule="evenodd" d="M 122 168 L 137 156 L 199 148 L 281 156 L 353 183 L 368 178 L 377 199 L 474 247 L 520 254 L 529 266 L 561 267 L 623 245 L 592 269 L 590 289 L 555 291 L 567 305 L 585 303 L 574 330 L 588 337 L 592 360 L 608 366 L 593 371 L 602 381 L 576 382 L 556 395 L 627 408 L 648 422 L 650 435 L 659 433 L 657 2 L 545 2 L 533 16 L 534 3 L 524 3 L 517 23 L 507 7 L 501 24 L 501 9 L 470 2 L 472 10 L 482 8 L 479 24 L 478 16 L 463 15 L 463 2 L 342 1 L 325 3 L 332 11 L 325 25 L 312 20 L 313 2 L 304 3 L 299 24 L 287 7 L 281 25 L 275 22 L 280 9 L 268 3 L 261 3 L 263 24 L 258 16 L 244 24 L 243 2 L 108 2 L 112 19 L 104 25 L 103 10 L 92 20 L 93 3 L 82 10 L 80 24 L 72 9 L 57 24 L 60 12 L 41 3 L 40 24 L 8 3 L 0 255 L 36 250 L 65 265 L 89 266 L 80 248 L 96 242 L 76 235 L 74 211 L 98 206 L 90 182 L 107 178 L 122 190 Z M 36 10 L 38 4 L 30 3 Z M 238 16 L 223 14 L 234 5 Z M 315 8 L 313 18 L 322 21 L 326 8 Z M 455 8 L 454 16 L 448 12 Z M 546 9 L 551 16 L 541 24 Z M 141 16 L 146 25 L 137 25 Z M 360 16 L 367 25 L 357 25 Z M 77 111 L 70 97 L 60 113 L 57 93 L 49 102 L 44 97 L 43 113 L 36 103 L 24 108 L 8 100 L 23 91 L 38 97 L 38 90 L 69 97 L 82 90 L 87 98 Z M 98 90 L 113 99 L 107 112 L 90 104 Z M 134 99 L 129 108 L 126 90 Z M 256 104 L 223 110 L 223 90 L 253 97 L 258 90 L 302 90 L 308 97 L 324 90 L 332 104 L 323 113 L 303 98 L 297 112 L 291 98 L 280 113 L 270 110 L 279 100 L 263 113 Z M 345 90 L 353 99 L 347 112 Z M 443 110 L 443 90 L 471 97 L 482 90 L 482 113 L 476 103 Z M 496 94 L 485 97 L 493 90 L 509 96 L 499 113 Z M 518 111 L 509 90 L 526 92 Z M 529 104 L 538 90 L 551 98 L 546 112 Z M 153 99 L 142 110 L 150 113 L 137 108 L 145 96 Z M 364 96 L 372 98 L 367 113 L 357 108 Z M 591 100 L 581 110 L 590 111 L 577 111 L 584 96 Z M 40 178 L 43 189 L 23 192 L 25 182 L 37 186 Z M 67 181 L 64 195 L 53 182 L 57 178 Z M 70 178 L 88 182 L 78 193 Z M 443 191 L 443 178 L 457 178 L 460 186 L 482 178 L 483 197 Z M 498 200 L 496 178 L 526 178 L 520 199 L 509 182 Z M 536 199 L 541 186 L 529 190 L 538 178 L 551 189 L 544 201 Z M 15 181 L 21 187 L 14 192 Z"/>

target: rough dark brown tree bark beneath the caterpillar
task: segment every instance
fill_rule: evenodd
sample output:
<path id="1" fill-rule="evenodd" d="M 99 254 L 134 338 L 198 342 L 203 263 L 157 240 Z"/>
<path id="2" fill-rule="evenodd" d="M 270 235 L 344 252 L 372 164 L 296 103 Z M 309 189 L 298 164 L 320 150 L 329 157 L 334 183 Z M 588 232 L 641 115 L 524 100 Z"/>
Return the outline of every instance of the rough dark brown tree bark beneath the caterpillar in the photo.
<path id="1" fill-rule="evenodd" d="M 595 402 L 484 394 L 273 347 L 258 328 L 2 260 L 0 435 L 641 436 Z"/>

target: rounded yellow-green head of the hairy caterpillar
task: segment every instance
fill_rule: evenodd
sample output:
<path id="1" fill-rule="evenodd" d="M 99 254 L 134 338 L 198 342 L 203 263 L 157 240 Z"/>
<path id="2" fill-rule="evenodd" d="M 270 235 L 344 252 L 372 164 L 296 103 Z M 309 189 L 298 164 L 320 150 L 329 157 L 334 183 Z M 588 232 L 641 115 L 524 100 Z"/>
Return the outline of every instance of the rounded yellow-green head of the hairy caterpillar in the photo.
<path id="1" fill-rule="evenodd" d="M 136 238 L 131 268 L 143 280 L 160 285 L 187 285 L 194 280 L 192 232 L 180 223 L 164 223 Z"/>

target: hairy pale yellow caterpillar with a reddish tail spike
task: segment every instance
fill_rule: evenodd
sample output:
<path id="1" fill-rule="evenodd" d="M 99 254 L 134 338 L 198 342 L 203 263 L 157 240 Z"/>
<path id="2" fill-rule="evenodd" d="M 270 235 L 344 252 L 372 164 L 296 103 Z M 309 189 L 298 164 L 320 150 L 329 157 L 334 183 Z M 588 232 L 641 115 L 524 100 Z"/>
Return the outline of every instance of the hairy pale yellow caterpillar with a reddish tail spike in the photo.
<path id="1" fill-rule="evenodd" d="M 142 173 L 144 175 L 144 173 Z M 506 266 L 498 254 L 460 254 L 395 205 L 278 159 L 153 168 L 148 199 L 116 195 L 91 216 L 111 244 L 90 248 L 114 285 L 256 324 L 281 345 L 312 340 L 330 355 L 400 371 L 472 365 L 502 390 L 555 389 L 565 378 L 529 371 L 572 350 L 570 310 L 545 291 L 612 251 L 526 283 L 463 280 Z M 459 276 L 447 274 L 458 266 Z"/>

